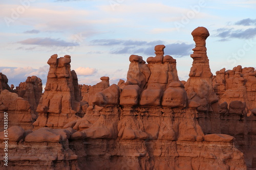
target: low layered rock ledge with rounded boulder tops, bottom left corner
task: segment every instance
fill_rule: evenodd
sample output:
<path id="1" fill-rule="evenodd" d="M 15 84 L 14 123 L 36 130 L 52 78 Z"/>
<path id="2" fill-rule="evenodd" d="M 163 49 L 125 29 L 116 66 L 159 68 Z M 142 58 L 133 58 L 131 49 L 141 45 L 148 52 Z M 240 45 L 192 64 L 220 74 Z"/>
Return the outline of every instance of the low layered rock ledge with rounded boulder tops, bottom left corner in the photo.
<path id="1" fill-rule="evenodd" d="M 1 169 L 80 169 L 78 156 L 69 148 L 68 139 L 75 132 L 71 128 L 32 132 L 13 126 L 8 132 L 8 166 L 3 161 L 5 152 L 1 152 Z M 1 148 L 5 148 L 4 141 L 1 132 Z"/>

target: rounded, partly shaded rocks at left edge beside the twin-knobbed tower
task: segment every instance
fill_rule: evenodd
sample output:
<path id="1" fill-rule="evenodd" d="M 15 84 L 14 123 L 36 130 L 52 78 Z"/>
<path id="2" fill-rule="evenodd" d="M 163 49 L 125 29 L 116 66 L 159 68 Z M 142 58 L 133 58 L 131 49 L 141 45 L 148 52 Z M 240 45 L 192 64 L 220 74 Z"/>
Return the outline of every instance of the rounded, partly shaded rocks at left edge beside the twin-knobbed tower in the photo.
<path id="1" fill-rule="evenodd" d="M 0 129 L 4 128 L 4 112 L 8 113 L 8 125 L 33 129 L 32 123 L 37 118 L 35 112 L 42 93 L 41 79 L 28 77 L 14 90 L 8 85 L 7 77 L 0 73 Z"/>

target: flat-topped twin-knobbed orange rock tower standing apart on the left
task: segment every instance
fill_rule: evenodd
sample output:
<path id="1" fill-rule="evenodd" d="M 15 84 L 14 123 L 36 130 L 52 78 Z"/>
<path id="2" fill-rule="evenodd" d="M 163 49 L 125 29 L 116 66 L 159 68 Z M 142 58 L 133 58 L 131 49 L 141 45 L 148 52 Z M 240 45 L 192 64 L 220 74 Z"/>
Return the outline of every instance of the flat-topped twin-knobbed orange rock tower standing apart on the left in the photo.
<path id="1" fill-rule="evenodd" d="M 71 57 L 66 55 L 57 58 L 52 55 L 45 92 L 42 95 L 36 112 L 38 118 L 33 123 L 34 129 L 40 127 L 63 127 L 65 124 L 84 114 L 81 103 L 77 76 L 70 70 Z"/>

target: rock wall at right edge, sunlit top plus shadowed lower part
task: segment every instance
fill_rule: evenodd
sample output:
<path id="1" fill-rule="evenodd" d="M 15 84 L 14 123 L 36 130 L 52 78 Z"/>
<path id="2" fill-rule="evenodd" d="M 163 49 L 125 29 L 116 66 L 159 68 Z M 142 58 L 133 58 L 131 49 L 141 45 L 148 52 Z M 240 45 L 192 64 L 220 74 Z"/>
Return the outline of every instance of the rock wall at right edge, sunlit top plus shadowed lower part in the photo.
<path id="1" fill-rule="evenodd" d="M 217 71 L 212 79 L 221 103 L 221 133 L 236 137 L 248 167 L 256 167 L 252 166 L 253 157 L 256 157 L 253 140 L 256 137 L 255 74 L 253 67 L 238 65 L 232 70 Z"/>

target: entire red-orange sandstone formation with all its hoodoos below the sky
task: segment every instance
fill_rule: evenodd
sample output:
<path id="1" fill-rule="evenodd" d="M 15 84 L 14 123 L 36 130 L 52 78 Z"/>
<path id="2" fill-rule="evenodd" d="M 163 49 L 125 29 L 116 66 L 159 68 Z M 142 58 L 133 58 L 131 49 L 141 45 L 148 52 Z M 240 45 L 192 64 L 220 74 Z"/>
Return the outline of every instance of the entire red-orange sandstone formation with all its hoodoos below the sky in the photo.
<path id="1" fill-rule="evenodd" d="M 209 32 L 192 33 L 189 79 L 155 46 L 146 61 L 131 55 L 127 80 L 79 85 L 71 57 L 48 60 L 47 83 L 36 76 L 14 86 L 0 74 L 1 169 L 255 169 L 256 70 L 238 65 L 213 76 Z M 4 165 L 8 113 L 8 167 Z"/>

